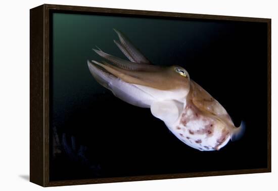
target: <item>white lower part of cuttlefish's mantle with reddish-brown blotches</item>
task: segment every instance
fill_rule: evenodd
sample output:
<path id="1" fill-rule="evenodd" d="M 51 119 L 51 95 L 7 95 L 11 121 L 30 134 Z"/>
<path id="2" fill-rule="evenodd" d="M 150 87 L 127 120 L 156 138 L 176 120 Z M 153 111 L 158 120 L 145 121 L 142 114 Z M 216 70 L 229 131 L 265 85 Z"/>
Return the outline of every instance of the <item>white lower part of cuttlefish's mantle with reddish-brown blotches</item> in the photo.
<path id="1" fill-rule="evenodd" d="M 219 150 L 230 139 L 223 123 L 203 115 L 192 104 L 188 104 L 177 122 L 168 128 L 180 141 L 201 151 Z"/>

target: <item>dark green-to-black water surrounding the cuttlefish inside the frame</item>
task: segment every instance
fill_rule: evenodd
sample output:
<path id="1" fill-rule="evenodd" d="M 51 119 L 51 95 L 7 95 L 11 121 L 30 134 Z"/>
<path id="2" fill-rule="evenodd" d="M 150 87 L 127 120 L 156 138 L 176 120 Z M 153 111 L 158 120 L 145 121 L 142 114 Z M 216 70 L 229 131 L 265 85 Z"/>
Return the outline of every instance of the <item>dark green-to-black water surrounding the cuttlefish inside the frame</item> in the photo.
<path id="1" fill-rule="evenodd" d="M 173 136 L 150 109 L 99 85 L 86 65 L 91 48 L 124 58 L 122 31 L 155 65 L 179 65 L 246 133 L 220 151 L 201 152 Z M 53 14 L 50 180 L 265 168 L 265 23 Z M 57 142 L 58 140 L 58 142 Z"/>

